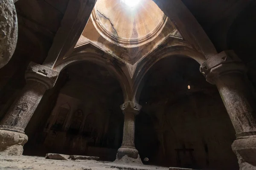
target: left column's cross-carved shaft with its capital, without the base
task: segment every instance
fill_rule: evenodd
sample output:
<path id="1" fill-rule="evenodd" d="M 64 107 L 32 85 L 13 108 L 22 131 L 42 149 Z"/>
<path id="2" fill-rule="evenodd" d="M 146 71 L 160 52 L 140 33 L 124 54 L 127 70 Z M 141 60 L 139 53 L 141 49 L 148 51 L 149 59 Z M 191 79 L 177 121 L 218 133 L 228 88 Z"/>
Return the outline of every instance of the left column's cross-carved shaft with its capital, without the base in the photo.
<path id="1" fill-rule="evenodd" d="M 58 72 L 42 65 L 30 63 L 26 74 L 26 85 L 0 122 L 0 129 L 24 133 L 44 92 L 52 88 Z"/>

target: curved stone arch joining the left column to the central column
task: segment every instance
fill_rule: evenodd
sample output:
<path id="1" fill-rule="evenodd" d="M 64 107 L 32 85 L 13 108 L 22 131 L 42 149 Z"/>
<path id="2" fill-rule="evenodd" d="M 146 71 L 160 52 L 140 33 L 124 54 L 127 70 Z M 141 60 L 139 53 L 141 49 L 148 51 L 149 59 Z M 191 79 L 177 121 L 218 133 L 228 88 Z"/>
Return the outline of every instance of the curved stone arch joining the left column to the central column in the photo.
<path id="1" fill-rule="evenodd" d="M 85 61 L 93 62 L 97 65 L 103 66 L 118 80 L 119 85 L 122 88 L 124 101 L 128 101 L 128 94 L 131 93 L 131 81 L 127 78 L 127 75 L 129 75 L 129 71 L 125 63 L 119 61 L 112 56 L 105 56 L 94 52 L 81 52 L 73 54 L 72 56 L 67 57 L 63 60 L 64 61 L 62 61 L 61 63 L 56 64 L 53 69 L 61 72 L 70 65 Z"/>

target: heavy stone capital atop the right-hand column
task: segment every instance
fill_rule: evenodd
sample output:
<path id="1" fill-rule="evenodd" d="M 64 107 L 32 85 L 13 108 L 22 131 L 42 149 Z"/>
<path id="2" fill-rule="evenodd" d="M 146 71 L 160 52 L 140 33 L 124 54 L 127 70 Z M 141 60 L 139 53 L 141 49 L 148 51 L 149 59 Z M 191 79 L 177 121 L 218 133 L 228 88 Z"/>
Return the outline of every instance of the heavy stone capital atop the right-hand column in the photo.
<path id="1" fill-rule="evenodd" d="M 215 84 L 214 79 L 221 74 L 244 73 L 247 68 L 233 50 L 228 50 L 204 61 L 200 66 L 200 71 L 206 77 L 207 82 Z"/>

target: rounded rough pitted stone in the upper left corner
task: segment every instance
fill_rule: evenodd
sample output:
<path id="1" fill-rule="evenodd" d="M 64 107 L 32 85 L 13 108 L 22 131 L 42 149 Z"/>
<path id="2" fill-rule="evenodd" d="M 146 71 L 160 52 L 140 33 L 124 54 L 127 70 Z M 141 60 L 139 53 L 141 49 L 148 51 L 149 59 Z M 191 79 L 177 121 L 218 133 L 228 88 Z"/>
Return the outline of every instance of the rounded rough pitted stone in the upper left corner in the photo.
<path id="1" fill-rule="evenodd" d="M 0 68 L 2 68 L 15 51 L 18 22 L 13 0 L 1 0 L 0 11 Z"/>

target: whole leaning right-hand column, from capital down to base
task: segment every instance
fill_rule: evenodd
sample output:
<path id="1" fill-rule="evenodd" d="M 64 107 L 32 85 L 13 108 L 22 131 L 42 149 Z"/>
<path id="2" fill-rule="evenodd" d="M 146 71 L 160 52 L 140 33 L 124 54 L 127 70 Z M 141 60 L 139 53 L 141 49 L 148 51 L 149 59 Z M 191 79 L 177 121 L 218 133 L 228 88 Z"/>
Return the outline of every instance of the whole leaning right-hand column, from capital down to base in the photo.
<path id="1" fill-rule="evenodd" d="M 201 72 L 215 84 L 236 130 L 232 149 L 241 170 L 256 170 L 255 99 L 246 76 L 246 67 L 233 51 L 207 59 Z"/>

